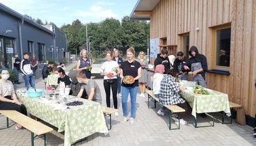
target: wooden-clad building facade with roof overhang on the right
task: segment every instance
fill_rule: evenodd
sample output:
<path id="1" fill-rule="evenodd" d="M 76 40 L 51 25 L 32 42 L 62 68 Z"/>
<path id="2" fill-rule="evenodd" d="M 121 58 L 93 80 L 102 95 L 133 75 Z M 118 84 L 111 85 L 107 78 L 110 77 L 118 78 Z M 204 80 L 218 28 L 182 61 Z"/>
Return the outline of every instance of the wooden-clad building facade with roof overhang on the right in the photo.
<path id="1" fill-rule="evenodd" d="M 255 117 L 256 1 L 139 0 L 130 18 L 150 19 L 150 39 L 159 38 L 170 54 L 188 56 L 198 47 L 207 57 L 207 88 L 227 93 Z"/>

